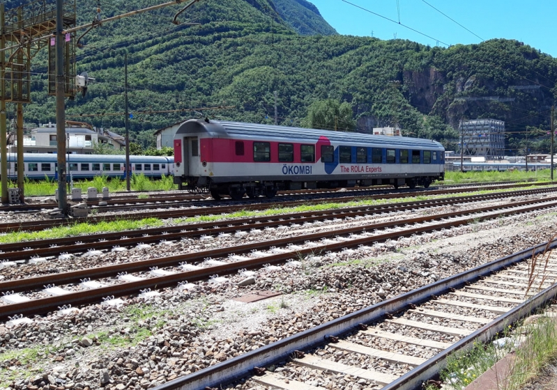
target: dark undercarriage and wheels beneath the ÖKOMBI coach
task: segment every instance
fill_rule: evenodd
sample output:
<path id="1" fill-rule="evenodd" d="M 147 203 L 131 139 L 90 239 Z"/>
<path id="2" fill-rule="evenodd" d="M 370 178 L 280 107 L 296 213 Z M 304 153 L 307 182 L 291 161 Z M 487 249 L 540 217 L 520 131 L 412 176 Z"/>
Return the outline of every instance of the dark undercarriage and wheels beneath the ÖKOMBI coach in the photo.
<path id="1" fill-rule="evenodd" d="M 439 176 L 418 176 L 413 178 L 374 178 L 360 180 L 324 180 L 324 181 L 258 181 L 258 182 L 213 182 L 211 178 L 190 177 L 178 183 L 178 189 L 185 189 L 197 194 L 211 194 L 215 200 L 223 196 L 230 196 L 234 201 L 239 201 L 247 195 L 249 198 L 266 196 L 274 198 L 278 191 L 300 189 L 328 189 L 372 187 L 374 185 L 392 185 L 395 189 L 406 185 L 410 189 L 416 186 L 429 187 Z"/>

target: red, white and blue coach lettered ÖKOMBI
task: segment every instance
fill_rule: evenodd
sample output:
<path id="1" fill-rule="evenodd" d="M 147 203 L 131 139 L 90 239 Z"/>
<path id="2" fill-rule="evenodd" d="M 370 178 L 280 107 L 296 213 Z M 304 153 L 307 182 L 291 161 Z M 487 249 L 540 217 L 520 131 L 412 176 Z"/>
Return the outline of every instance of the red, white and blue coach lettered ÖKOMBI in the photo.
<path id="1" fill-rule="evenodd" d="M 213 198 L 278 189 L 399 185 L 444 177 L 444 149 L 427 139 L 252 123 L 188 120 L 174 139 L 174 182 Z"/>

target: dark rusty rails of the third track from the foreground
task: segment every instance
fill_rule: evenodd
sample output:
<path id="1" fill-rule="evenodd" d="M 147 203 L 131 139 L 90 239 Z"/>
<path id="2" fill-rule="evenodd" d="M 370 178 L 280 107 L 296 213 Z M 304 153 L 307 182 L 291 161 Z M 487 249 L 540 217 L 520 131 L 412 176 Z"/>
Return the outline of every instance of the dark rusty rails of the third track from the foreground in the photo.
<path id="1" fill-rule="evenodd" d="M 1 260 L 23 260 L 32 256 L 53 256 L 61 252 L 79 253 L 89 249 L 107 249 L 114 246 L 138 244 L 139 242 L 157 242 L 160 240 L 176 240 L 184 237 L 199 237 L 215 233 L 263 228 L 266 226 L 284 226 L 293 223 L 315 221 L 326 217 L 346 218 L 363 214 L 381 214 L 384 212 L 400 212 L 413 208 L 432 208 L 455 203 L 471 203 L 489 201 L 495 198 L 508 198 L 511 196 L 526 196 L 557 191 L 557 188 L 529 189 L 514 192 L 498 192 L 492 194 L 459 196 L 456 198 L 440 198 L 429 201 L 411 201 L 402 203 L 388 203 L 377 206 L 356 206 L 352 208 L 309 211 L 296 214 L 275 215 L 266 217 L 248 217 L 224 221 L 192 224 L 189 226 L 164 226 L 160 228 L 147 228 L 119 233 L 100 233 L 93 235 L 80 235 L 48 240 L 33 240 L 26 242 L 13 242 L 0 244 Z M 125 238 L 124 238 L 125 237 Z M 78 243 L 79 242 L 79 243 Z M 91 246 L 93 244 L 93 246 Z M 61 247 L 61 245 L 64 245 Z M 24 249 L 22 249 L 24 247 Z"/>

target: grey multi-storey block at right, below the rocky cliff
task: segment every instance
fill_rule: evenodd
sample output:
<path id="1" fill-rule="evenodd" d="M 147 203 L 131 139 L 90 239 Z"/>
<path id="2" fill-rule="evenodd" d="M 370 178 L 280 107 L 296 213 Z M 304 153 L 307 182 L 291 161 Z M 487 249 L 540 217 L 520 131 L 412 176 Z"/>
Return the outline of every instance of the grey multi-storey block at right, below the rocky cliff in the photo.
<path id="1" fill-rule="evenodd" d="M 459 145 L 464 155 L 502 159 L 505 153 L 505 122 L 496 119 L 461 120 Z"/>

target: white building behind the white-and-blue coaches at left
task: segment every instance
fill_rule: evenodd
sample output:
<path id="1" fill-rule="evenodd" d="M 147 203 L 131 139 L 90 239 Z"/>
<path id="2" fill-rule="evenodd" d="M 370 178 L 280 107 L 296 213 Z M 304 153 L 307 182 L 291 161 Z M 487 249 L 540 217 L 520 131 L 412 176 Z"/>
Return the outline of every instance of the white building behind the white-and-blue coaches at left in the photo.
<path id="1" fill-rule="evenodd" d="M 114 132 L 99 129 L 86 123 L 71 123 L 66 125 L 66 150 L 68 153 L 91 155 L 96 143 L 105 143 L 108 148 L 121 150 L 125 148 L 125 138 Z M 24 134 L 23 153 L 56 153 L 58 139 L 56 125 L 49 123 L 46 127 L 31 129 L 30 134 Z M 17 140 L 8 147 L 9 153 L 17 152 Z"/>

